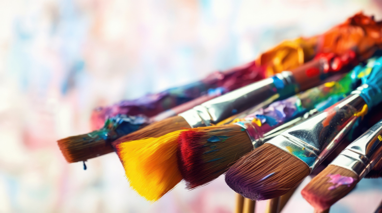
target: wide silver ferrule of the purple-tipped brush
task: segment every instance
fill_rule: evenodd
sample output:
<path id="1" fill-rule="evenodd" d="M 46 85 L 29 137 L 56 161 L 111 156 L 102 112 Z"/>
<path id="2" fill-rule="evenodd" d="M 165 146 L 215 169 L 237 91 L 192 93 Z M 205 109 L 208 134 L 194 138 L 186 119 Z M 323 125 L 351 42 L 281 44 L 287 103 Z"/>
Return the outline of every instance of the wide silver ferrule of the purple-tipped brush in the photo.
<path id="1" fill-rule="evenodd" d="M 357 113 L 362 111 L 365 104 L 365 100 L 359 94 L 350 94 L 267 143 L 301 159 L 312 171 L 341 143 L 356 122 Z"/>

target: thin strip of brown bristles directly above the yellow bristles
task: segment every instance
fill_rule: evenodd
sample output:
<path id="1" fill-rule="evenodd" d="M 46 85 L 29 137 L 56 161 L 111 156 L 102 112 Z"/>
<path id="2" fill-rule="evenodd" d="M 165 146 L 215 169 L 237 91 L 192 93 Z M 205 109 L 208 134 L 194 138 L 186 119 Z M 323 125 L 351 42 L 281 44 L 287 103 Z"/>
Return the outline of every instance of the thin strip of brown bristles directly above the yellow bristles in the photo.
<path id="1" fill-rule="evenodd" d="M 166 118 L 161 121 L 154 122 L 135 132 L 124 135 L 112 142 L 113 147 L 125 141 L 138 140 L 145 137 L 160 137 L 170 132 L 180 130 L 181 128 L 191 128 L 189 124 L 181 116 Z"/>

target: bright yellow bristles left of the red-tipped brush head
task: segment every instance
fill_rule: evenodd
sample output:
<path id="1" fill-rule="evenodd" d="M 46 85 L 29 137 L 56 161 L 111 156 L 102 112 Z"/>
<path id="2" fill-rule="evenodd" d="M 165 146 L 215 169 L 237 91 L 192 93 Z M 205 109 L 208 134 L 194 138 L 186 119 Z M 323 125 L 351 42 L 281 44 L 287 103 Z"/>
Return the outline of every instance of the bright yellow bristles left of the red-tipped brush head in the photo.
<path id="1" fill-rule="evenodd" d="M 151 202 L 157 201 L 182 180 L 176 156 L 181 131 L 184 130 L 116 146 L 130 187 Z"/>

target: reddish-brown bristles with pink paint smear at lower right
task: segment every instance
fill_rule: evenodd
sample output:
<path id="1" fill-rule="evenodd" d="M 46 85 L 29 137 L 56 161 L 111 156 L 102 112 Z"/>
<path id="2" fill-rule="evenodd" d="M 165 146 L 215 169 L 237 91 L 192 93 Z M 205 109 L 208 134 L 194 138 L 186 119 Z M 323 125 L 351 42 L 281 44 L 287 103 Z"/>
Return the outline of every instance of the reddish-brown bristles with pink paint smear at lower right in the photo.
<path id="1" fill-rule="evenodd" d="M 339 174 L 345 177 L 351 177 L 353 182 L 349 185 L 339 185 L 334 189 L 335 185 L 330 182 L 332 178 L 330 175 Z M 329 165 L 322 170 L 312 181 L 305 186 L 301 194 L 303 197 L 317 210 L 322 211 L 328 209 L 339 199 L 343 198 L 351 189 L 358 183 L 358 175 L 348 169 Z"/>

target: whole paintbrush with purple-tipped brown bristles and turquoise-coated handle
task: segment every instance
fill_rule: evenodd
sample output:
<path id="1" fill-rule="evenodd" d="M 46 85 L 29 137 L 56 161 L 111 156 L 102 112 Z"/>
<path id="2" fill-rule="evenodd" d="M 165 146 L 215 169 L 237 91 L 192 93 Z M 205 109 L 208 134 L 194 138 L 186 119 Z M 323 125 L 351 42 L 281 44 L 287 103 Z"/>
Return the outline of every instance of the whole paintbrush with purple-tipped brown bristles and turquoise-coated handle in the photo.
<path id="1" fill-rule="evenodd" d="M 382 58 L 362 85 L 313 118 L 272 138 L 239 159 L 226 173 L 229 187 L 266 200 L 295 188 L 341 142 L 359 117 L 382 100 Z"/>

